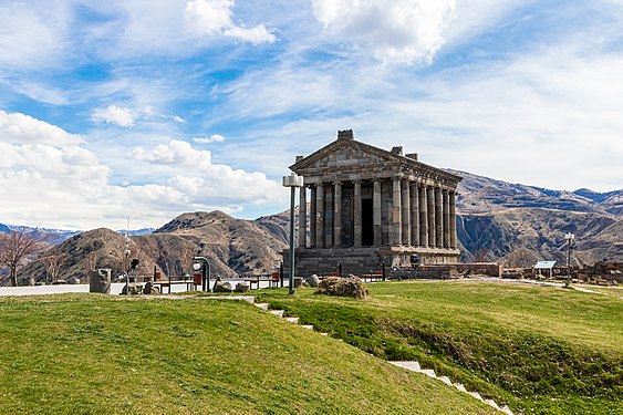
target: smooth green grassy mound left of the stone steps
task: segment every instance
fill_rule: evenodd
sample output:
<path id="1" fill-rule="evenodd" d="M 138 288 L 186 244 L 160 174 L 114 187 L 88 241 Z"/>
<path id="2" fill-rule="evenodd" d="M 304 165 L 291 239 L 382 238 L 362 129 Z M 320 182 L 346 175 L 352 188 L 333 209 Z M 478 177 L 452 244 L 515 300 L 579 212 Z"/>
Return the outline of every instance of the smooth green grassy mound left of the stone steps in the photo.
<path id="1" fill-rule="evenodd" d="M 0 413 L 491 413 L 245 302 L 3 298 L 0 319 Z"/>

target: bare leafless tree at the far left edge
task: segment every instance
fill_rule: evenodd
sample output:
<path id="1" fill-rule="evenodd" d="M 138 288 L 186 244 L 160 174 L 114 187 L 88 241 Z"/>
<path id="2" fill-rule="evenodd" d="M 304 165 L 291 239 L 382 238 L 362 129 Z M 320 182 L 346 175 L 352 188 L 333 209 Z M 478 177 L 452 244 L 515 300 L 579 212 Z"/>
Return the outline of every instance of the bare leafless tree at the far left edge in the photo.
<path id="1" fill-rule="evenodd" d="M 18 269 L 30 256 L 43 249 L 44 239 L 44 235 L 27 228 L 10 234 L 0 232 L 0 264 L 9 268 L 13 287 L 18 287 Z"/>

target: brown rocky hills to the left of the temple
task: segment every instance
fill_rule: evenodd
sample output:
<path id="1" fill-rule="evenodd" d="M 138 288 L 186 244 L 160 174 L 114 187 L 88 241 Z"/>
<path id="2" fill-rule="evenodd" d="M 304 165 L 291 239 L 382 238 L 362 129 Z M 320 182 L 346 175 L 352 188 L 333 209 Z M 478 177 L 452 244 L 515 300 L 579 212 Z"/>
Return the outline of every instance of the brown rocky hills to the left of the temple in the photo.
<path id="1" fill-rule="evenodd" d="M 279 215 L 274 220 L 279 221 Z M 129 238 L 131 259 L 138 259 L 137 274 L 191 274 L 193 258 L 209 260 L 212 276 L 264 273 L 279 266 L 285 242 L 279 230 L 262 221 L 236 219 L 221 211 L 184 214 L 153 234 Z M 276 235 L 272 231 L 277 232 Z M 58 279 L 84 278 L 93 268 L 111 268 L 115 276 L 125 269 L 125 237 L 110 229 L 79 234 L 44 255 L 60 256 Z M 22 276 L 45 280 L 46 261 L 28 266 Z M 52 278 L 49 278 L 52 279 Z"/>

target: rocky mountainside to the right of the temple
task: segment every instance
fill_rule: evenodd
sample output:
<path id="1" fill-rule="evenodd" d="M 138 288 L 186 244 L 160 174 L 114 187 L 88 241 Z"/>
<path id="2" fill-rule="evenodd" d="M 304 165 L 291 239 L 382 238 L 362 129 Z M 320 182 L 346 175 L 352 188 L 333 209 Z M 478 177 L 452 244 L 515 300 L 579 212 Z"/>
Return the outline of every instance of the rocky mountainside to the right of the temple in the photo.
<path id="1" fill-rule="evenodd" d="M 457 197 L 457 234 L 467 260 L 564 263 L 564 235 L 572 232 L 573 262 L 623 261 L 623 190 L 549 190 L 453 173 L 464 177 Z"/>

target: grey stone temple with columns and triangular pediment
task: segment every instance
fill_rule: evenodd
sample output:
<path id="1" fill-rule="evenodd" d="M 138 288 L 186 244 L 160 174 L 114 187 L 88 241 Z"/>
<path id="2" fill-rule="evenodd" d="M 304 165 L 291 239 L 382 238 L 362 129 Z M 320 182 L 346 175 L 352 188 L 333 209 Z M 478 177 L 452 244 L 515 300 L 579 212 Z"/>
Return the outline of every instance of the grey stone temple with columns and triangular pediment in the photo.
<path id="1" fill-rule="evenodd" d="M 456 187 L 459 176 L 403 154 L 354 139 L 338 139 L 290 166 L 304 177 L 300 191 L 295 274 L 377 272 L 420 263 L 459 261 Z M 285 253 L 285 252 L 284 252 Z M 283 256 L 288 258 L 287 255 Z"/>

